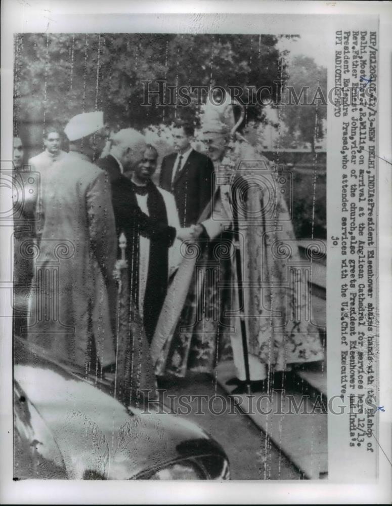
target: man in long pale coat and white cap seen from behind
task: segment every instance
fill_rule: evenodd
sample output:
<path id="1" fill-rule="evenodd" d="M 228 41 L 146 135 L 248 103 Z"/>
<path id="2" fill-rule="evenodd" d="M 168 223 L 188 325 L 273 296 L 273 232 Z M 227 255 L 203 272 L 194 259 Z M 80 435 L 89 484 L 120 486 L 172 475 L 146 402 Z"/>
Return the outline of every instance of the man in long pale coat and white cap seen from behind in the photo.
<path id="1" fill-rule="evenodd" d="M 115 362 L 112 273 L 116 234 L 106 174 L 92 160 L 105 143 L 103 113 L 65 128 L 70 152 L 41 174 L 28 338 L 86 373 Z"/>

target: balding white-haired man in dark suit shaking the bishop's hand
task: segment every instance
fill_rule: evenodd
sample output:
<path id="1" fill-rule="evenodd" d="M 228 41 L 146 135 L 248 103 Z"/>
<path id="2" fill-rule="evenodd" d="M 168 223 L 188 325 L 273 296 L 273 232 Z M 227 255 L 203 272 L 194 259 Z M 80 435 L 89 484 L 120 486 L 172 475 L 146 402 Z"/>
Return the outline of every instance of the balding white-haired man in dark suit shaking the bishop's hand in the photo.
<path id="1" fill-rule="evenodd" d="M 127 403 L 126 405 L 129 404 L 132 392 L 139 392 L 141 377 L 144 378 L 143 385 L 147 390 L 150 389 L 154 378 L 147 340 L 151 331 L 148 326 L 146 328 L 139 314 L 140 237 L 149 239 L 152 249 L 164 250 L 173 244 L 176 237 L 184 240 L 192 236 L 191 229 L 169 226 L 168 220 L 162 219 L 162 213 L 156 212 L 153 213 L 154 217 L 148 216 L 139 207 L 135 185 L 124 175 L 124 168 L 130 166 L 135 170 L 143 160 L 145 150 L 146 142 L 139 132 L 134 129 L 123 129 L 111 137 L 109 154 L 97 162 L 106 171 L 110 181 L 117 246 L 121 233 L 126 238 L 127 290 L 118 296 L 116 368 L 119 398 Z M 119 247 L 117 251 L 119 257 Z M 159 268 L 159 265 L 155 267 Z M 167 266 L 165 268 L 164 275 L 167 276 Z"/>

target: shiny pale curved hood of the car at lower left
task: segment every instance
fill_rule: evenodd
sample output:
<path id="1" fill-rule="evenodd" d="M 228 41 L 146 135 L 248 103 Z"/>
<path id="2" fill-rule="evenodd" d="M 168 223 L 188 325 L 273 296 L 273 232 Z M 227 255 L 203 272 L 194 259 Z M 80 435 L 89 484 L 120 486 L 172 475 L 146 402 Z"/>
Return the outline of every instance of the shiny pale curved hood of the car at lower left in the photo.
<path id="1" fill-rule="evenodd" d="M 16 364 L 14 378 L 52 431 L 70 479 L 126 480 L 177 459 L 224 455 L 197 425 L 152 406 L 130 411 L 50 364 Z"/>

